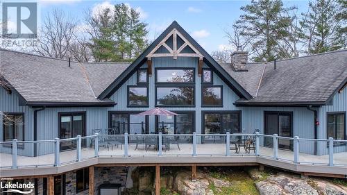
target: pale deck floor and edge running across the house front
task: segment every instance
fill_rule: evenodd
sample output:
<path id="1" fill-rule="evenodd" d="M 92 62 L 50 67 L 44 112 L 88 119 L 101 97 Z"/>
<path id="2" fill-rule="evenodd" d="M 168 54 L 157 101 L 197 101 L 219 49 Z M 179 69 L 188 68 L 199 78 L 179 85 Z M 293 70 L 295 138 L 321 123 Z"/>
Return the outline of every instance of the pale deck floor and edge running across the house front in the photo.
<path id="1" fill-rule="evenodd" d="M 347 152 L 334 154 L 334 166 L 329 167 L 329 155 L 310 155 L 299 153 L 298 163 L 294 163 L 292 151 L 278 150 L 278 159 L 273 158 L 273 149 L 260 146 L 259 155 L 253 151 L 245 153 L 241 149 L 239 153 L 230 151 L 226 156 L 225 144 L 197 144 L 196 156 L 192 156 L 192 144 L 172 145 L 169 151 L 158 151 L 151 148 L 144 149 L 139 145 L 135 150 L 135 144 L 128 145 L 128 157 L 124 157 L 124 146 L 114 146 L 113 149 L 101 148 L 99 158 L 94 157 L 94 148 L 81 150 L 81 161 L 77 161 L 76 150 L 60 152 L 60 166 L 54 167 L 54 153 L 37 157 L 17 156 L 17 169 L 12 169 L 12 155 L 0 153 L 1 176 L 24 176 L 25 174 L 58 173 L 78 169 L 90 165 L 117 164 L 131 166 L 131 164 L 239 164 L 259 163 L 272 167 L 312 173 L 333 173 L 347 175 Z M 298 169 L 298 167 L 301 167 Z M 30 172 L 33 171 L 33 172 Z M 28 172 L 29 171 L 29 172 Z"/>

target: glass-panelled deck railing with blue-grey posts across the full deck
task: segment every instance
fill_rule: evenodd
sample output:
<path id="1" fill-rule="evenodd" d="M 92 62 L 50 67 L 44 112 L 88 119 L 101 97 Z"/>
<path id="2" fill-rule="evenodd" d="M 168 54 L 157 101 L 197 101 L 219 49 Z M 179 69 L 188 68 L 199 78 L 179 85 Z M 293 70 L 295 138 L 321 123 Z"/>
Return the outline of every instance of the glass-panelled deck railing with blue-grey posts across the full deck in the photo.
<path id="1" fill-rule="evenodd" d="M 21 147 L 35 145 L 37 156 L 19 155 Z M 41 149 L 43 146 L 43 149 Z M 280 147 L 289 147 L 283 150 Z M 312 155 L 307 147 L 315 151 L 328 151 L 328 155 Z M 337 151 L 337 147 L 340 151 Z M 42 141 L 0 142 L 2 151 L 0 168 L 58 167 L 62 164 L 81 162 L 90 158 L 131 158 L 158 156 L 260 156 L 294 164 L 323 164 L 347 167 L 347 140 L 306 139 L 255 134 L 146 134 L 146 135 L 95 135 L 69 139 Z M 288 149 L 289 149 L 288 148 Z M 341 149 L 342 148 L 342 149 Z M 302 150 L 302 151 L 301 151 Z M 341 152 L 341 155 L 339 154 Z M 337 153 L 335 155 L 335 153 Z M 10 160 L 11 159 L 11 160 Z"/>

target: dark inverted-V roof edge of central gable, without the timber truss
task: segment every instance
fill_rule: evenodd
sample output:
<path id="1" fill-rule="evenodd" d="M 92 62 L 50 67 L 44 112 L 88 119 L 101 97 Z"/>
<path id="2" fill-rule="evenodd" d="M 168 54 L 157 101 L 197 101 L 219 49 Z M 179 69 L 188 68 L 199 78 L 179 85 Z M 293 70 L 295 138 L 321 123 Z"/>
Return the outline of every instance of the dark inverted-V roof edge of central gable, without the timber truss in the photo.
<path id="1" fill-rule="evenodd" d="M 251 94 L 244 90 L 244 88 L 241 85 L 239 85 L 239 83 L 237 83 L 237 81 L 234 78 L 232 78 L 232 76 L 230 76 L 230 74 L 228 74 L 228 72 L 225 69 L 223 69 L 221 65 L 219 65 L 216 62 L 216 60 L 214 60 L 210 56 L 210 54 L 208 54 L 208 52 L 206 52 L 205 49 L 203 49 L 176 21 L 172 22 L 172 24 L 169 27 L 167 27 L 167 29 L 165 29 L 165 31 L 157 39 L 155 39 L 155 41 L 152 42 L 152 44 L 148 46 L 146 50 L 133 63 L 131 63 L 131 65 L 118 78 L 116 78 L 110 86 L 108 86 L 98 96 L 98 98 L 105 99 L 110 97 L 121 86 L 124 80 L 126 80 L 126 78 L 128 78 L 131 74 L 135 72 L 137 67 L 143 65 L 143 63 L 146 61 L 146 56 L 149 55 L 149 53 L 153 51 L 153 49 L 155 49 L 155 46 L 160 44 L 160 42 L 162 42 L 162 40 L 165 37 L 167 37 L 167 35 L 174 29 L 176 29 L 181 35 L 183 35 L 183 37 L 185 37 L 185 39 L 187 39 L 188 42 L 192 44 L 192 46 L 194 46 L 199 51 L 199 53 L 202 54 L 202 56 L 204 57 L 203 61 L 209 67 L 211 67 L 216 72 L 216 74 L 218 74 L 219 77 L 221 77 L 222 80 L 229 87 L 231 87 L 232 90 L 234 90 L 234 92 L 237 95 L 241 96 L 244 99 L 252 98 Z"/>

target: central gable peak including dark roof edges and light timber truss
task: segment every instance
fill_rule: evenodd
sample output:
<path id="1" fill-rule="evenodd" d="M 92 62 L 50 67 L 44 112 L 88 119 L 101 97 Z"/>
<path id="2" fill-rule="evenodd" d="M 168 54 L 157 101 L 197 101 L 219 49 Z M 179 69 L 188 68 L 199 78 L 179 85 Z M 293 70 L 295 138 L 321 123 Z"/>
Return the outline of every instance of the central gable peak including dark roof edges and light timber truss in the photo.
<path id="1" fill-rule="evenodd" d="M 171 40 L 172 37 L 172 40 Z M 180 41 L 178 41 L 180 40 Z M 172 46 L 172 47 L 171 47 Z M 187 47 L 189 46 L 189 47 Z M 160 51 L 160 52 L 157 52 Z M 158 55 L 156 55 L 158 54 Z M 98 99 L 110 97 L 136 69 L 151 57 L 179 56 L 198 57 L 208 65 L 235 93 L 244 98 L 252 99 L 244 88 L 216 62 L 207 51 L 205 51 L 176 21 L 165 29 L 165 31 L 149 46 L 131 65 L 117 77 L 99 96 Z"/>

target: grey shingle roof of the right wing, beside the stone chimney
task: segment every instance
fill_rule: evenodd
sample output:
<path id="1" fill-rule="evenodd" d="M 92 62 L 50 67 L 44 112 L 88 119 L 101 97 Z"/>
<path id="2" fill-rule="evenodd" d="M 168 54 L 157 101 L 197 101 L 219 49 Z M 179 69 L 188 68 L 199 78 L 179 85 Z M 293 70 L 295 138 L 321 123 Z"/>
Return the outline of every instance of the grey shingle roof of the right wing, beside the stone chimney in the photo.
<path id="1" fill-rule="evenodd" d="M 273 62 L 246 67 L 250 73 L 239 76 L 228 70 L 254 96 L 236 105 L 326 105 L 346 85 L 347 50 L 278 60 L 276 69 Z"/>

